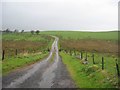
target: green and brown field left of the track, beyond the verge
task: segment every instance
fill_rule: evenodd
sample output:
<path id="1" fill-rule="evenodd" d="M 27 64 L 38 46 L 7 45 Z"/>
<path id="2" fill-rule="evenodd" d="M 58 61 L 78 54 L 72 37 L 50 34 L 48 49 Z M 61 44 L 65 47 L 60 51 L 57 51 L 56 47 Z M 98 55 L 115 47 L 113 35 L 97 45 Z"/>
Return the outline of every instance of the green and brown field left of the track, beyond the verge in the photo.
<path id="1" fill-rule="evenodd" d="M 53 38 L 48 35 L 36 35 L 31 33 L 5 33 L 2 35 L 2 49 L 6 56 L 18 53 L 43 52 L 51 47 Z"/>

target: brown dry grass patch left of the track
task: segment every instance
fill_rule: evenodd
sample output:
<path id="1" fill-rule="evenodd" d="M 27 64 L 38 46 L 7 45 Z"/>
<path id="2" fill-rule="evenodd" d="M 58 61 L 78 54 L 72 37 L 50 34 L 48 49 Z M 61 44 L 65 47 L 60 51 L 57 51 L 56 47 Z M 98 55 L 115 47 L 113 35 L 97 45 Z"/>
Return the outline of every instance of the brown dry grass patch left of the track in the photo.
<path id="1" fill-rule="evenodd" d="M 15 55 L 15 50 L 18 53 L 33 53 L 38 52 L 47 47 L 47 43 L 32 42 L 32 41 L 3 41 L 2 48 L 6 55 Z"/>

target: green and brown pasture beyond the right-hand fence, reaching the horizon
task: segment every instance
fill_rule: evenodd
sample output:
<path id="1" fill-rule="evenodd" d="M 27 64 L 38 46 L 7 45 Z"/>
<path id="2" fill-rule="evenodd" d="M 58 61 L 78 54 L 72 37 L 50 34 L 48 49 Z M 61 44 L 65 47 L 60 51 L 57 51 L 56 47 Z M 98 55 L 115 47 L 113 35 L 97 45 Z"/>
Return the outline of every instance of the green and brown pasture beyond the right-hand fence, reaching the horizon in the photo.
<path id="1" fill-rule="evenodd" d="M 118 55 L 118 32 L 79 32 L 52 31 L 43 34 L 56 35 L 60 38 L 61 49 L 109 53 Z"/>

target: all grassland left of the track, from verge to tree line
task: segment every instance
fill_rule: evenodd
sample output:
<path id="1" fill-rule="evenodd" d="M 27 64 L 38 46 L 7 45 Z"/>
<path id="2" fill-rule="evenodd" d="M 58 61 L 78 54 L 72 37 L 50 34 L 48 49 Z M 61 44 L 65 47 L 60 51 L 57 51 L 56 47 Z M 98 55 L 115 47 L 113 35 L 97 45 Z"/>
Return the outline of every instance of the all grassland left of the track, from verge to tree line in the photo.
<path id="1" fill-rule="evenodd" d="M 2 62 L 3 75 L 43 60 L 48 55 L 47 49 L 51 48 L 53 40 L 47 35 L 3 33 L 2 49 L 5 51 Z"/>

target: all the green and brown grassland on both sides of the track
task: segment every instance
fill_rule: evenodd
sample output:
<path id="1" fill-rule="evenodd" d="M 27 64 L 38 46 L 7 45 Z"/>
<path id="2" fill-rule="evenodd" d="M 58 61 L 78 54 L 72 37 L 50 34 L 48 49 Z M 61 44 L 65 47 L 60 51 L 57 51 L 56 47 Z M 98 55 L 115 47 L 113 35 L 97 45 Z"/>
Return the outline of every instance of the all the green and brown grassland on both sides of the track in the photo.
<path id="1" fill-rule="evenodd" d="M 7 53 L 2 62 L 3 74 L 35 63 L 47 56 L 54 40 L 50 35 L 59 37 L 58 47 L 62 61 L 78 88 L 118 87 L 116 70 L 118 32 L 46 31 L 40 32 L 39 35 L 3 34 L 3 49 Z M 17 56 L 16 49 L 18 49 Z M 82 60 L 79 59 L 80 52 L 83 52 Z M 86 52 L 88 64 L 83 64 Z M 95 55 L 95 64 L 92 53 Z M 50 62 L 53 62 L 53 56 Z M 101 69 L 102 57 L 104 57 L 104 70 Z"/>

